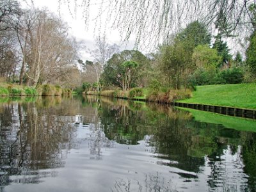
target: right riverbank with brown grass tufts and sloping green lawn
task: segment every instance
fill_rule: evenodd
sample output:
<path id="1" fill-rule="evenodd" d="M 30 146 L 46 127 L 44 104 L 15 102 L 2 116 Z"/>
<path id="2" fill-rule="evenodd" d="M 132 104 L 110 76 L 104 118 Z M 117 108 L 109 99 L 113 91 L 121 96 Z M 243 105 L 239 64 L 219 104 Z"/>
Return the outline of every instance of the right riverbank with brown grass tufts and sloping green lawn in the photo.
<path id="1" fill-rule="evenodd" d="M 243 109 L 256 109 L 256 84 L 216 84 L 196 86 L 196 90 L 171 90 L 169 92 L 149 92 L 146 88 L 135 88 L 129 92 L 106 90 L 87 92 L 88 95 L 100 95 L 120 99 L 140 100 L 171 104 L 173 102 L 205 104 Z"/>

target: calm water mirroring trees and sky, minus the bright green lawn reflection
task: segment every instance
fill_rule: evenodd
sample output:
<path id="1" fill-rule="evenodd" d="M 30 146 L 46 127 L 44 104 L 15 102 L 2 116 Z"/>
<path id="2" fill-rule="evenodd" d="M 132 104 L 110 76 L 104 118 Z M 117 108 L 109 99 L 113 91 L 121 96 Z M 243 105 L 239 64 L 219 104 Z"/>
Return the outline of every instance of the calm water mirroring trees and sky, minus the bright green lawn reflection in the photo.
<path id="1" fill-rule="evenodd" d="M 0 191 L 256 191 L 255 132 L 125 100 L 13 100 L 0 104 Z"/>

